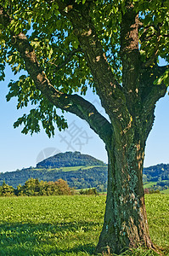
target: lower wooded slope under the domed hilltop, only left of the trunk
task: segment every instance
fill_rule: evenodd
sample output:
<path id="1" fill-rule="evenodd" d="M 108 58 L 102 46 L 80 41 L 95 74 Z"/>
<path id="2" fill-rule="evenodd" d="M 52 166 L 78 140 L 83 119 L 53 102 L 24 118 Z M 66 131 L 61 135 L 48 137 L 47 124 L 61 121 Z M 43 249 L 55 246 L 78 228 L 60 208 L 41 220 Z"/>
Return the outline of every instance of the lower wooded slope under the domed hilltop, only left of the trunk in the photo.
<path id="1" fill-rule="evenodd" d="M 91 166 L 87 169 L 79 166 L 77 171 L 68 172 L 62 171 L 62 169 L 48 170 L 30 167 L 15 172 L 0 173 L 0 185 L 5 181 L 16 189 L 19 183 L 24 185 L 31 177 L 47 182 L 62 178 L 67 181 L 70 188 L 76 189 L 96 188 L 99 192 L 104 192 L 107 189 L 107 166 Z"/>

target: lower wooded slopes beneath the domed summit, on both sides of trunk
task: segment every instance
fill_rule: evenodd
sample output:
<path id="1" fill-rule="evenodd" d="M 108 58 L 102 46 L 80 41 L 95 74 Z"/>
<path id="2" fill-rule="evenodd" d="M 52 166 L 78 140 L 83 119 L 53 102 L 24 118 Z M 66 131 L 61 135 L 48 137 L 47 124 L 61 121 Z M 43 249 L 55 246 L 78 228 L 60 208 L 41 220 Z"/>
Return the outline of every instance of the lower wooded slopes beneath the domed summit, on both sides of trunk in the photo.
<path id="1" fill-rule="evenodd" d="M 26 168 L 15 172 L 1 172 L 0 186 L 3 181 L 17 188 L 19 184 L 24 185 L 30 178 L 38 178 L 39 181 L 55 182 L 59 178 L 65 180 L 70 188 L 89 189 L 96 188 L 99 192 L 107 189 L 107 166 L 77 166 L 76 171 L 65 171 L 64 168 Z M 144 168 L 144 183 L 155 182 L 152 189 L 165 190 L 169 188 L 169 164 L 157 165 Z"/>

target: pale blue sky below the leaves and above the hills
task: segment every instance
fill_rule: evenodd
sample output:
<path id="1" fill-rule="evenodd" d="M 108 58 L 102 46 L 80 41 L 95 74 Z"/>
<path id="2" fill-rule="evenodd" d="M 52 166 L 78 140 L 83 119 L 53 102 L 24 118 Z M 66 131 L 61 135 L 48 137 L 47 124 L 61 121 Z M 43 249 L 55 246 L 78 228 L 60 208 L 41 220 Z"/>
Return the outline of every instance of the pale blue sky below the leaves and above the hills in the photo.
<path id="1" fill-rule="evenodd" d="M 48 138 L 44 131 L 38 134 L 23 135 L 21 128 L 14 129 L 14 121 L 26 108 L 17 110 L 16 99 L 6 102 L 8 82 L 17 79 L 10 69 L 6 69 L 6 79 L 0 83 L 0 172 L 11 172 L 29 166 L 36 166 L 52 154 L 65 151 L 81 151 L 82 154 L 91 154 L 99 160 L 107 162 L 104 143 L 89 128 L 84 120 L 76 115 L 66 113 L 70 127 L 66 131 L 57 131 L 54 138 Z M 87 100 L 93 102 L 104 113 L 100 106 L 99 97 L 87 92 Z M 160 163 L 169 163 L 169 96 L 166 95 L 155 108 L 155 124 L 149 134 L 146 144 L 144 166 L 153 166 Z"/>

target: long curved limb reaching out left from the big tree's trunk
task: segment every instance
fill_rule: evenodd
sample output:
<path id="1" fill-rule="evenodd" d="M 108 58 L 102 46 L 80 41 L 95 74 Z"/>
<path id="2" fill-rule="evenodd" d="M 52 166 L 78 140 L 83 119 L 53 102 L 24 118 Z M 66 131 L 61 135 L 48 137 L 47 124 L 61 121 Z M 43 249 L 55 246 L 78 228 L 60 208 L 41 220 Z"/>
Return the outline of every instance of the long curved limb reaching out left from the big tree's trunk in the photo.
<path id="1" fill-rule="evenodd" d="M 0 24 L 8 26 L 10 19 L 0 6 Z M 85 119 L 90 127 L 95 131 L 104 143 L 109 143 L 112 137 L 112 128 L 107 119 L 102 116 L 92 103 L 87 102 L 78 95 L 67 95 L 56 90 L 48 80 L 46 74 L 40 67 L 37 56 L 25 34 L 20 32 L 19 35 L 12 35 L 12 44 L 14 48 L 20 52 L 20 56 L 25 61 L 26 71 L 30 74 L 31 79 L 34 80 L 38 90 L 42 95 L 48 98 L 57 108 L 61 108 L 70 113 L 75 113 L 81 119 Z"/>

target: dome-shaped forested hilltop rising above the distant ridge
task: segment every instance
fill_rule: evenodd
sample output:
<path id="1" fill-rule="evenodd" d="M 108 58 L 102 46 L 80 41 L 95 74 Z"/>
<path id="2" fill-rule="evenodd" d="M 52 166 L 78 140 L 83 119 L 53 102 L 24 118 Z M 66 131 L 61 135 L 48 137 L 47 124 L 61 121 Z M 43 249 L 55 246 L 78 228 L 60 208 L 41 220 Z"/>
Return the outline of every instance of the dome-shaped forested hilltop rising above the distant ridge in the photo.
<path id="1" fill-rule="evenodd" d="M 60 168 L 69 166 L 104 166 L 104 162 L 81 152 L 55 154 L 37 164 L 37 168 Z"/>

